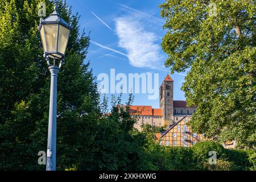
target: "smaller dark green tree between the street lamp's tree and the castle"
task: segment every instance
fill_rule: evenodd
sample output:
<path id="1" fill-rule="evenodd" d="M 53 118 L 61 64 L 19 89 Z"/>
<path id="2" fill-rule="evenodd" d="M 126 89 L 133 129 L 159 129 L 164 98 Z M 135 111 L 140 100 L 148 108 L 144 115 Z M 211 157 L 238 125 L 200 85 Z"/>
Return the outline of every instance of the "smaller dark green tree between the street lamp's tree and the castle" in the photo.
<path id="1" fill-rule="evenodd" d="M 112 109 L 98 122 L 94 152 L 94 170 L 139 170 L 143 166 L 143 150 L 146 138 L 134 131 L 136 117 L 129 113 L 133 102 L 130 95 L 125 105 L 121 104 L 122 94 L 112 96 Z M 104 97 L 103 102 L 106 102 Z"/>

